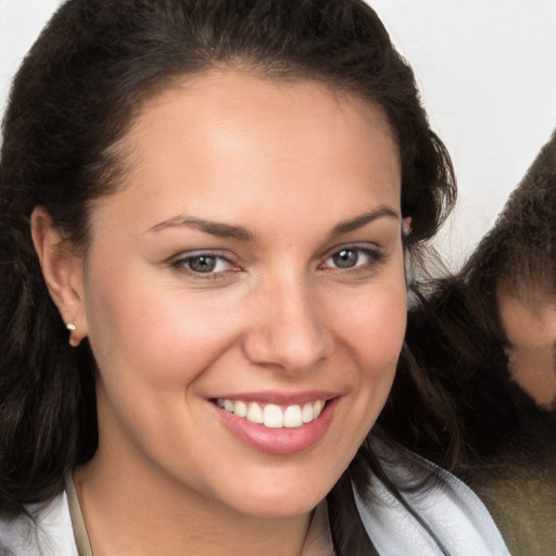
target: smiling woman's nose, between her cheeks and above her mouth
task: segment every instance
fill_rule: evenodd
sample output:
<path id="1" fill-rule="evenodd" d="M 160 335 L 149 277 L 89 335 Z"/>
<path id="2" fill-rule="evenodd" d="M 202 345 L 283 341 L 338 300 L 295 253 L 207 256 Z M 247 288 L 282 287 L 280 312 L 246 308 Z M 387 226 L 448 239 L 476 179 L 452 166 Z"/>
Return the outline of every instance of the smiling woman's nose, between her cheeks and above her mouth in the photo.
<path id="1" fill-rule="evenodd" d="M 305 280 L 276 281 L 257 298 L 252 326 L 243 341 L 247 357 L 257 365 L 290 374 L 311 370 L 326 358 L 332 336 L 323 307 Z"/>

